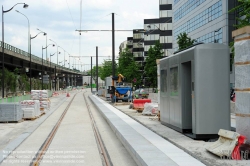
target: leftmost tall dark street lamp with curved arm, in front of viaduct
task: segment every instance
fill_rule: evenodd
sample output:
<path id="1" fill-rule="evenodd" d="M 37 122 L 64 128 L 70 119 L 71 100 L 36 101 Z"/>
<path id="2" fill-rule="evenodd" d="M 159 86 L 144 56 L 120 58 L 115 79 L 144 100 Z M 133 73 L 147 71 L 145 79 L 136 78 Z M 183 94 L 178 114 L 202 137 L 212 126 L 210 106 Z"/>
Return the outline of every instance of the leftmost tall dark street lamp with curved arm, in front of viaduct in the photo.
<path id="1" fill-rule="evenodd" d="M 16 5 L 19 4 L 23 4 L 23 8 L 27 8 L 29 5 L 27 5 L 26 3 L 17 3 L 15 4 L 12 8 L 10 8 L 9 10 L 3 10 L 3 6 L 2 6 L 2 98 L 4 98 L 4 13 L 7 13 L 9 11 L 11 11 Z"/>

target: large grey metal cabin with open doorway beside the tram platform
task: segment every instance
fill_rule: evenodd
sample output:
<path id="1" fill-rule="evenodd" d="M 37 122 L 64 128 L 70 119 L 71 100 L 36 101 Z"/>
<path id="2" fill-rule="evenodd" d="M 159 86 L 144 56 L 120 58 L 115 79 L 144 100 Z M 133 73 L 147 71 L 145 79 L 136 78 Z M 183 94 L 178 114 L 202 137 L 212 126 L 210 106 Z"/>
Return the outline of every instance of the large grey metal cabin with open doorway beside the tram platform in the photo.
<path id="1" fill-rule="evenodd" d="M 230 130 L 229 47 L 199 44 L 160 60 L 161 123 L 194 139 Z"/>

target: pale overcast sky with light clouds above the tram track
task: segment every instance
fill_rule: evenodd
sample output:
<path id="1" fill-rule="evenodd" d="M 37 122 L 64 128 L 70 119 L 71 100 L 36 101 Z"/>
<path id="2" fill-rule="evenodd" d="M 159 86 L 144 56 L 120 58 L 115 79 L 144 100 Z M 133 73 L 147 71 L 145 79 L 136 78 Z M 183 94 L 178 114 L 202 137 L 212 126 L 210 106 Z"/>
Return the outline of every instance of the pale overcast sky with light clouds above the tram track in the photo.
<path id="1" fill-rule="evenodd" d="M 95 56 L 96 46 L 99 47 L 99 56 L 112 56 L 112 34 L 111 32 L 83 32 L 80 36 L 76 29 L 102 30 L 112 28 L 111 13 L 115 13 L 115 29 L 142 29 L 143 20 L 159 17 L 158 0 L 0 0 L 4 11 L 9 10 L 16 3 L 17 5 L 8 13 L 4 14 L 4 38 L 5 42 L 28 52 L 28 21 L 17 13 L 20 11 L 26 15 L 30 22 L 31 36 L 35 36 L 40 30 L 48 34 L 48 44 L 55 41 L 58 46 L 66 50 L 71 56 Z M 81 14 L 82 13 L 82 14 Z M 81 19 L 81 17 L 82 19 Z M 80 23 L 80 20 L 81 23 Z M 2 26 L 0 27 L 2 29 Z M 119 45 L 127 37 L 132 37 L 133 32 L 116 32 L 115 54 L 118 55 Z M 46 37 L 38 35 L 31 41 L 31 52 L 33 55 L 42 57 L 42 46 L 46 45 Z M 64 60 L 64 51 L 59 48 L 61 54 L 58 61 Z M 48 47 L 48 57 L 56 52 L 56 47 Z M 68 60 L 68 53 L 65 59 Z M 46 51 L 44 51 L 44 59 Z M 107 58 L 99 58 L 103 62 Z M 57 57 L 52 57 L 56 63 Z M 90 58 L 80 58 L 74 63 L 85 64 L 79 67 L 82 70 L 90 68 Z M 95 59 L 93 59 L 95 62 Z M 67 62 L 66 62 L 67 63 Z M 73 58 L 70 58 L 73 63 Z M 68 65 L 66 66 L 68 67 Z M 78 67 L 77 67 L 78 68 Z"/>

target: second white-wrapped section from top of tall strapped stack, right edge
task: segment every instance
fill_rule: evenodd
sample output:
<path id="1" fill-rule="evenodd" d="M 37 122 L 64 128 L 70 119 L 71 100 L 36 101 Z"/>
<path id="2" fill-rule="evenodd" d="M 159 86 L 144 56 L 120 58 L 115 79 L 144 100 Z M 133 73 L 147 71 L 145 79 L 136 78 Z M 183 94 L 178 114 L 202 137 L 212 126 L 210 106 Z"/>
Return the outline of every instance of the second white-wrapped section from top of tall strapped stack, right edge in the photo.
<path id="1" fill-rule="evenodd" d="M 250 88 L 250 65 L 235 65 L 235 88 Z"/>

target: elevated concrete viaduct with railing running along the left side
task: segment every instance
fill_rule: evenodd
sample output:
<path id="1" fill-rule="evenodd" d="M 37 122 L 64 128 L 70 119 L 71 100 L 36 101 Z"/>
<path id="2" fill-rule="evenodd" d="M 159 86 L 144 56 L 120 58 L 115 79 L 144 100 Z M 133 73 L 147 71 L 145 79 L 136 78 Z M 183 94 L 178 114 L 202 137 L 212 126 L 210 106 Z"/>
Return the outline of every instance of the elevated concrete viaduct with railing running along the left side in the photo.
<path id="1" fill-rule="evenodd" d="M 0 69 L 2 69 L 2 47 L 3 44 L 0 42 Z M 26 69 L 30 67 L 30 54 L 7 43 L 4 43 L 4 67 L 9 71 L 14 71 L 18 68 L 20 72 L 26 72 Z M 30 70 L 26 72 L 27 76 L 30 77 Z M 75 71 L 70 68 L 57 65 L 48 60 L 43 60 L 42 58 L 35 55 L 31 55 L 31 77 L 40 78 L 42 71 L 43 74 L 50 75 L 51 79 L 57 78 L 57 89 L 59 89 L 59 83 L 64 82 L 66 86 L 82 86 L 82 76 L 85 74 L 83 72 Z"/>

